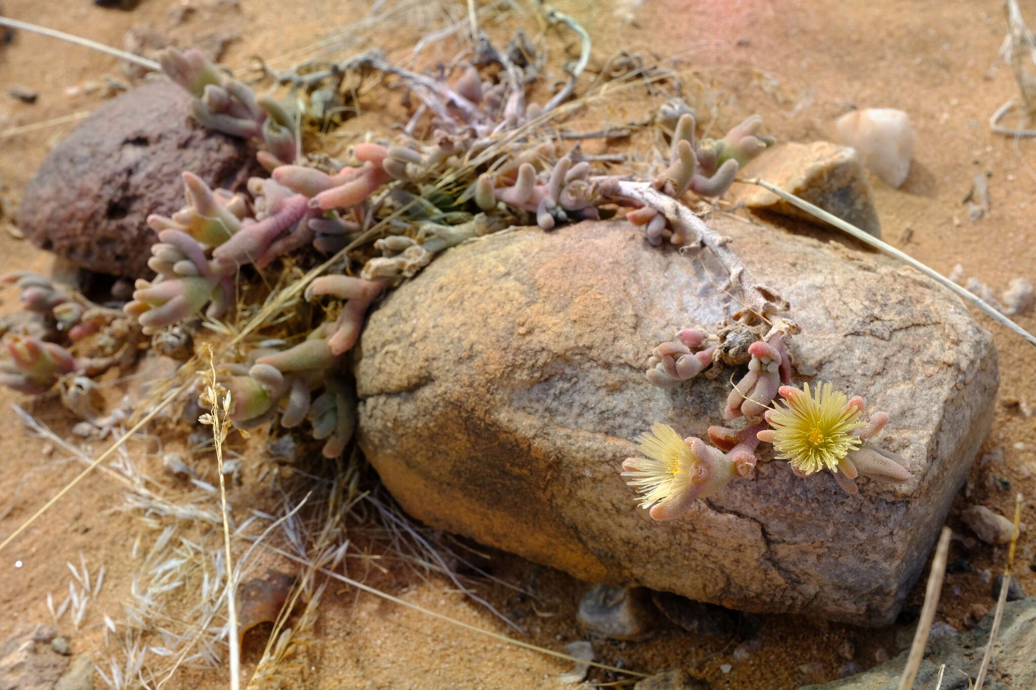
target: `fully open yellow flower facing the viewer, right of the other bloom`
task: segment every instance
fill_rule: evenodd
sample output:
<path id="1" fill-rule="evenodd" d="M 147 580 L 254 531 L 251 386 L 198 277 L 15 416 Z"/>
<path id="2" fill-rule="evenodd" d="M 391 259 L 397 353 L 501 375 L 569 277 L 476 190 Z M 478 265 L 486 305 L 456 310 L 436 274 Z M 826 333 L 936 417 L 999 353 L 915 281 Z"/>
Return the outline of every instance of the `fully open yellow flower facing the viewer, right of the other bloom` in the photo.
<path id="1" fill-rule="evenodd" d="M 848 404 L 845 394 L 830 383 L 819 383 L 812 395 L 809 384 L 803 388 L 781 388 L 787 407 L 767 414 L 774 430 L 764 440 L 772 439 L 777 459 L 788 460 L 802 474 L 824 468 L 837 472 L 838 462 L 860 446 L 860 438 L 853 433 L 862 426 L 860 409 Z"/>

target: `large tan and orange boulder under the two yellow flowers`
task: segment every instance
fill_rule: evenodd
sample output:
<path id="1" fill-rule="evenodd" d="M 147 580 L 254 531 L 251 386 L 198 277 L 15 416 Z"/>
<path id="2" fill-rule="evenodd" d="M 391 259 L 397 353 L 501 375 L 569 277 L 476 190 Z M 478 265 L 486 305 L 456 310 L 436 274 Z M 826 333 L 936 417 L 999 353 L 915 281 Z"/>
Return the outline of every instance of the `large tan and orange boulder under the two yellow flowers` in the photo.
<path id="1" fill-rule="evenodd" d="M 596 582 L 750 611 L 891 622 L 989 428 L 990 335 L 952 294 L 875 254 L 711 217 L 790 300 L 796 380 L 835 382 L 892 422 L 914 479 L 847 496 L 762 462 L 654 522 L 620 476 L 653 422 L 703 434 L 732 371 L 651 386 L 652 348 L 731 308 L 699 257 L 625 221 L 516 230 L 437 258 L 369 318 L 359 440 L 425 522 Z M 711 262 L 710 262 L 711 266 Z"/>

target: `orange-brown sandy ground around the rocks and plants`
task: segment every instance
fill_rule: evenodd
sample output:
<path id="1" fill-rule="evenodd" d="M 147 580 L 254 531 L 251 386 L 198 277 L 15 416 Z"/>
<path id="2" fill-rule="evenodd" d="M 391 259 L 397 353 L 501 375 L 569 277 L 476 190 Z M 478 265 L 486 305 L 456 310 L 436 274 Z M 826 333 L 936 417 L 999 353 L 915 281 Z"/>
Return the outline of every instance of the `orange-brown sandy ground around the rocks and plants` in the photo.
<path id="1" fill-rule="evenodd" d="M 60 9 L 35 0 L 3 0 L 2 11 L 121 46 L 123 34 L 134 25 L 168 26 L 167 11 L 180 4 L 185 3 L 144 0 L 137 9 L 122 12 L 97 8 L 87 0 L 60 3 Z M 240 5 L 240 19 L 233 27 L 239 38 L 224 57 L 233 66 L 244 64 L 252 55 L 288 54 L 366 13 L 366 3 L 334 0 L 241 0 Z M 999 0 L 645 0 L 634 10 L 632 26 L 617 23 L 607 3 L 598 7 L 567 0 L 558 5 L 594 35 L 595 60 L 618 49 L 645 57 L 679 55 L 685 68 L 712 84 L 727 119 L 757 112 L 766 118 L 767 131 L 779 141 L 829 139 L 834 136 L 833 120 L 853 106 L 906 111 L 917 133 L 910 178 L 899 189 L 872 180 L 886 239 L 944 274 L 959 263 L 966 276 L 976 276 L 998 291 L 1012 277 L 1036 279 L 1036 243 L 1032 241 L 1036 190 L 1032 148 L 1036 144 L 992 134 L 986 124 L 1001 103 L 1016 95 L 1012 73 L 998 58 L 1006 30 Z M 1023 5 L 1036 22 L 1036 3 Z M 461 10 L 454 7 L 454 16 L 461 17 Z M 427 17 L 415 12 L 409 19 L 418 30 Z M 369 38 L 387 49 L 406 51 L 414 35 L 395 32 Z M 358 43 L 354 41 L 340 54 L 351 54 Z M 0 95 L 0 197 L 7 203 L 0 224 L 9 221 L 49 147 L 74 124 L 15 136 L 7 132 L 90 111 L 102 95 L 84 93 L 83 85 L 100 81 L 106 73 L 121 77 L 115 59 L 26 32 L 0 47 L 0 90 L 21 84 L 39 92 L 35 104 Z M 79 87 L 78 92 L 69 91 L 73 87 Z M 605 116 L 617 118 L 610 112 Z M 991 205 L 984 218 L 972 222 L 961 200 L 976 173 L 988 175 Z M 29 243 L 0 232 L 0 269 L 46 270 L 49 264 L 49 258 Z M 0 298 L 2 312 L 18 308 L 13 291 L 0 293 Z M 956 513 L 962 508 L 977 503 L 1010 514 L 1015 491 L 1030 499 L 1036 496 L 1036 426 L 1019 406 L 1011 404 L 1036 397 L 1033 351 L 1006 329 L 977 318 L 995 335 L 1002 378 L 992 431 L 980 455 L 1002 449 L 1004 459 L 973 470 L 949 519 L 961 534 L 967 531 Z M 1036 330 L 1032 312 L 1018 321 Z M 12 402 L 26 407 L 58 434 L 67 434 L 71 423 L 53 401 L 33 403 L 0 391 L 4 429 L 0 433 L 0 537 L 9 535 L 82 467 L 63 451 L 23 433 L 10 412 Z M 99 452 L 104 447 L 94 443 L 91 450 Z M 157 475 L 157 460 L 147 461 Z M 235 501 L 254 502 L 250 505 L 269 506 L 276 500 L 263 485 L 237 491 Z M 89 605 L 81 630 L 73 630 L 67 619 L 61 628 L 70 635 L 76 651 L 94 654 L 98 660 L 112 651 L 103 649 L 103 616 L 118 616 L 133 572 L 127 554 L 135 540 L 142 535 L 145 541 L 153 539 L 150 526 L 137 514 L 118 510 L 120 505 L 118 483 L 95 472 L 4 549 L 0 554 L 0 639 L 23 623 L 50 621 L 47 593 L 62 596 L 68 579 L 65 562 L 78 563 L 82 552 L 93 572 L 105 565 L 106 584 L 97 601 Z M 1033 508 L 1026 509 L 1023 521 L 1034 523 Z M 1017 570 L 1021 584 L 1036 593 L 1029 534 L 1023 533 Z M 994 604 L 980 573 L 1002 566 L 1005 549 L 986 545 L 969 549 L 955 542 L 950 559 L 957 558 L 966 558 L 971 571 L 947 575 L 938 620 L 962 629 L 972 623 L 967 614 L 976 604 Z M 482 596 L 525 627 L 521 639 L 560 650 L 580 638 L 575 606 L 583 583 L 507 554 L 491 554 L 490 567 L 497 577 L 539 599 L 535 602 L 488 582 L 479 587 Z M 373 583 L 470 625 L 508 632 L 506 625 L 457 594 L 444 579 L 423 579 L 408 569 L 391 567 Z M 909 601 L 920 603 L 922 590 L 916 587 Z M 846 640 L 861 668 L 874 665 L 883 655 L 894 655 L 895 631 L 896 627 L 864 630 L 767 616 L 760 617 L 761 648 L 743 660 L 731 656 L 737 641 L 690 635 L 672 627 L 663 627 L 648 642 L 597 641 L 595 650 L 604 663 L 639 670 L 685 667 L 709 679 L 715 688 L 792 688 L 837 678 L 839 665 L 845 662 L 838 650 Z M 345 586 L 328 591 L 310 639 L 282 666 L 286 687 L 551 688 L 558 687 L 553 677 L 569 668 L 567 662 L 506 646 Z M 253 647 L 246 649 L 247 668 L 258 658 Z M 730 669 L 723 672 L 721 665 L 726 664 Z M 614 677 L 595 671 L 592 678 L 606 682 Z M 225 684 L 225 673 L 197 672 L 175 677 L 166 687 L 201 689 Z"/>

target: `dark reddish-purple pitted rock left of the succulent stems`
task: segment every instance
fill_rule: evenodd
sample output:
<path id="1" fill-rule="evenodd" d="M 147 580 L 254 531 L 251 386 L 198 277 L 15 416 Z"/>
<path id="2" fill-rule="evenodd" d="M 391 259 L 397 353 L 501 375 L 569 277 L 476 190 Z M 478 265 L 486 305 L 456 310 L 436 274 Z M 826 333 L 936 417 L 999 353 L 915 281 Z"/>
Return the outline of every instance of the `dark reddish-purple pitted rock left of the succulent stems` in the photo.
<path id="1" fill-rule="evenodd" d="M 18 226 L 37 246 L 84 268 L 150 276 L 150 213 L 186 204 L 180 173 L 242 187 L 258 171 L 244 140 L 191 119 L 191 96 L 152 82 L 98 108 L 51 149 L 22 198 Z"/>

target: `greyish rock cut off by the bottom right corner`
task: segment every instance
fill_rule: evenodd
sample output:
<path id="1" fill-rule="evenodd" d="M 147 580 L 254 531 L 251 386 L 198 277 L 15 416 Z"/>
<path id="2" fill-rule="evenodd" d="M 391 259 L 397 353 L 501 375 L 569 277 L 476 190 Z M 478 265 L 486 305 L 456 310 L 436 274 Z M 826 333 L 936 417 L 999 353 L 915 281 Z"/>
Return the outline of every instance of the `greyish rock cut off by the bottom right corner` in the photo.
<path id="1" fill-rule="evenodd" d="M 995 612 L 958 636 L 928 638 L 924 658 L 918 666 L 915 688 L 970 690 L 978 677 L 989 641 Z M 896 690 L 906 667 L 910 652 L 886 661 L 870 670 L 826 685 L 810 685 L 800 690 Z M 1014 601 L 1004 606 L 1004 619 L 994 642 L 985 684 L 986 690 L 1036 688 L 1036 597 Z M 943 682 L 938 684 L 940 667 L 946 664 Z M 970 680 L 969 680 L 969 677 Z"/>

